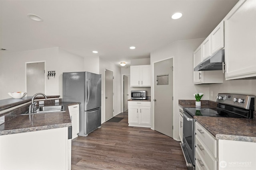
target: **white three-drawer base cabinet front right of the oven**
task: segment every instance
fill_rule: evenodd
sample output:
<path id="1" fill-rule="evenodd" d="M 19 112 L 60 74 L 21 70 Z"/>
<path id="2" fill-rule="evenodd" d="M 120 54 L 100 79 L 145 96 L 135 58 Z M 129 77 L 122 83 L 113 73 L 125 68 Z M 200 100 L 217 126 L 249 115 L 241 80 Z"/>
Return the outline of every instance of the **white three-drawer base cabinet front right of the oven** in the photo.
<path id="1" fill-rule="evenodd" d="M 217 170 L 218 154 L 217 140 L 198 122 L 196 130 L 196 169 Z"/>

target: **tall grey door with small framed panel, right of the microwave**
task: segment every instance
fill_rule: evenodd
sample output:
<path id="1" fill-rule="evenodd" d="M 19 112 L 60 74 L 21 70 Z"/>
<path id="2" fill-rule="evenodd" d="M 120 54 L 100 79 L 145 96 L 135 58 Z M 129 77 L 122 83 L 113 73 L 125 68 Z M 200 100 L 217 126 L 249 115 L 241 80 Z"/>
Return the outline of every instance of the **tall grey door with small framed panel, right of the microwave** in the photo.
<path id="1" fill-rule="evenodd" d="M 154 63 L 154 129 L 173 137 L 173 59 Z"/>

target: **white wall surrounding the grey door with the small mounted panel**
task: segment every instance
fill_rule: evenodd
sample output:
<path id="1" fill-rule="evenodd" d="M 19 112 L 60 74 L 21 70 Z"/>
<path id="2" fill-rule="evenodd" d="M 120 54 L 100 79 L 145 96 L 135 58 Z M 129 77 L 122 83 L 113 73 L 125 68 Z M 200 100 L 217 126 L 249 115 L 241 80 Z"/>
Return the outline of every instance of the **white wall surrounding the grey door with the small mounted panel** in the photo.
<path id="1" fill-rule="evenodd" d="M 173 138 L 179 140 L 178 132 L 178 100 L 188 99 L 194 100 L 195 92 L 202 92 L 206 95 L 202 100 L 209 99 L 209 87 L 207 85 L 193 85 L 193 52 L 202 43 L 204 38 L 176 41 L 170 45 L 162 47 L 150 54 L 151 63 L 151 99 L 154 99 L 154 79 L 153 79 L 153 64 L 157 61 L 173 57 L 174 61 L 174 108 L 173 108 Z M 172 101 L 170 101 L 172 102 Z M 151 100 L 152 120 L 154 120 L 154 102 Z M 154 121 L 152 121 L 154 129 Z"/>

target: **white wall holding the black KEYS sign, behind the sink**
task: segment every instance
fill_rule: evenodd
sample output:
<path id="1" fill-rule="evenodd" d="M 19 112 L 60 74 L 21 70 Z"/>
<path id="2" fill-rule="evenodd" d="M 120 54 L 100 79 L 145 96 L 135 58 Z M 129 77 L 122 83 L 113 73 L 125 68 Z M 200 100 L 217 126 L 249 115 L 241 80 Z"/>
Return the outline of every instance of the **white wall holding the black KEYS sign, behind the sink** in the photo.
<path id="1" fill-rule="evenodd" d="M 25 63 L 45 61 L 46 74 L 56 71 L 56 76 L 46 77 L 46 95 L 62 96 L 62 73 L 83 71 L 84 58 L 69 53 L 58 47 L 22 51 L 15 53 L 1 53 L 0 72 L 0 100 L 10 98 L 8 92 L 25 92 Z"/>

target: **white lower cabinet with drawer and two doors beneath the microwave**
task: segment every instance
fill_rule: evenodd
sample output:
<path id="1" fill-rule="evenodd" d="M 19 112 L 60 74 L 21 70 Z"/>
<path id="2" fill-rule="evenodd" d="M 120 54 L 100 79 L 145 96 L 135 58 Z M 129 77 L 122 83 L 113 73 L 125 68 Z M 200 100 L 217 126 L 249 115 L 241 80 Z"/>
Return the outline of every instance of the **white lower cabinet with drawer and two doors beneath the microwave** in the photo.
<path id="1" fill-rule="evenodd" d="M 150 102 L 128 101 L 129 126 L 151 127 Z"/>

